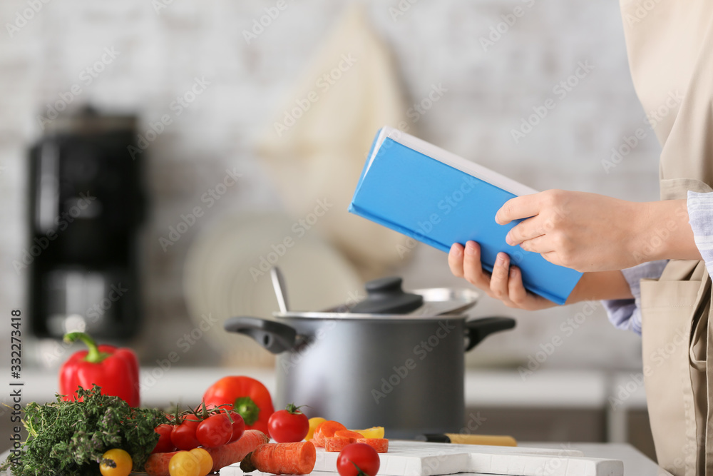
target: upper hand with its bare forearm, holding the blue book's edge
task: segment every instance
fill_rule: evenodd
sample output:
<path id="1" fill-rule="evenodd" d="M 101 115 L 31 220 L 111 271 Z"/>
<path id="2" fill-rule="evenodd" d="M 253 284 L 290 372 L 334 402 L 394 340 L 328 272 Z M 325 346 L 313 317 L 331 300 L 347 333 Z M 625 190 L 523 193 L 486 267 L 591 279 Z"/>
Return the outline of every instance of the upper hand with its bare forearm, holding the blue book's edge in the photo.
<path id="1" fill-rule="evenodd" d="M 529 217 L 529 218 L 528 218 Z M 578 271 L 621 270 L 658 259 L 701 259 L 685 200 L 636 203 L 548 190 L 512 198 L 496 213 L 509 245 Z"/>

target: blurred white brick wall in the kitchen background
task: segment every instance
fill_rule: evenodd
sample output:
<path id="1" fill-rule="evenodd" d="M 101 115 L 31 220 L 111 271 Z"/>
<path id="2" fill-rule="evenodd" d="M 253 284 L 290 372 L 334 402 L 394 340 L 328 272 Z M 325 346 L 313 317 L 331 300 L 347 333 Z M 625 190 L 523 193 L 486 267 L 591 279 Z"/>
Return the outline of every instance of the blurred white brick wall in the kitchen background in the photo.
<path id="1" fill-rule="evenodd" d="M 265 33 L 247 45 L 241 31 L 274 1 L 175 0 L 157 14 L 145 0 L 52 0 L 12 38 L 6 23 L 29 7 L 26 1 L 2 1 L 0 313 L 21 303 L 24 293 L 24 275 L 15 273 L 11 262 L 25 239 L 26 148 L 40 133 L 34 116 L 80 81 L 81 71 L 105 47 L 114 47 L 120 52 L 116 60 L 90 85 L 82 84 L 77 101 L 106 111 L 139 111 L 146 124 L 166 113 L 196 76 L 211 83 L 148 152 L 152 208 L 144 243 L 150 319 L 137 345 L 146 360 L 165 355 L 172 340 L 190 328 L 180 288 L 190 237 L 164 254 L 158 236 L 227 166 L 239 167 L 249 180 L 229 192 L 230 201 L 212 208 L 204 223 L 230 209 L 281 208 L 255 156 L 255 141 L 348 3 L 288 1 Z M 396 21 L 389 11 L 397 8 L 396 0 L 365 3 L 393 53 L 407 100 L 419 101 L 432 83 L 448 88 L 419 121 L 423 138 L 534 188 L 657 198 L 658 146 L 652 134 L 610 173 L 601 164 L 622 136 L 640 127 L 643 115 L 628 75 L 616 0 L 421 0 Z M 481 36 L 515 7 L 523 16 L 483 51 Z M 511 129 L 520 118 L 553 96 L 553 86 L 585 60 L 595 69 L 532 133 L 514 143 Z M 451 278 L 442 253 L 424 247 L 414 255 L 404 269 L 394 270 L 408 285 L 463 284 Z M 515 313 L 484 298 L 478 315 L 516 315 L 519 330 L 486 341 L 469 361 L 520 362 L 578 310 Z M 210 349 L 202 350 L 185 362 L 217 361 Z M 622 368 L 638 365 L 639 351 L 637 338 L 610 328 L 600 310 L 548 364 Z"/>

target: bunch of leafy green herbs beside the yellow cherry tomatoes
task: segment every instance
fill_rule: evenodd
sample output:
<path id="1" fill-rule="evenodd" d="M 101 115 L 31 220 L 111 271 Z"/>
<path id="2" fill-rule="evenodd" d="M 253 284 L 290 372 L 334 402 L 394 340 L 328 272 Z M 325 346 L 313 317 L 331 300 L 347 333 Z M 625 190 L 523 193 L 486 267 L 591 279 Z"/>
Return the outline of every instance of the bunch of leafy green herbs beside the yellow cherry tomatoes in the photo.
<path id="1" fill-rule="evenodd" d="M 143 465 L 158 442 L 154 428 L 169 420 L 161 410 L 133 408 L 119 397 L 101 395 L 101 388 L 79 388 L 83 401 L 28 403 L 23 424 L 29 436 L 18 464 L 10 459 L 0 470 L 14 476 L 98 475 L 104 452 L 121 448 L 131 455 L 133 470 Z"/>

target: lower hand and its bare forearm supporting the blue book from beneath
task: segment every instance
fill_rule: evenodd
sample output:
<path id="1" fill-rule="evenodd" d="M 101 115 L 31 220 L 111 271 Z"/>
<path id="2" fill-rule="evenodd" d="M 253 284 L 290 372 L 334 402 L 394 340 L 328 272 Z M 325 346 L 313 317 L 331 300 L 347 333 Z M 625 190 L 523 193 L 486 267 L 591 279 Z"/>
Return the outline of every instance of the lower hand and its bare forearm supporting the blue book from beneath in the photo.
<path id="1" fill-rule="evenodd" d="M 485 291 L 491 298 L 501 300 L 509 308 L 539 310 L 556 305 L 548 299 L 525 290 L 520 269 L 510 265 L 510 258 L 506 253 L 498 253 L 493 273 L 483 270 L 481 248 L 474 241 L 468 241 L 465 248 L 459 243 L 454 243 L 451 252 L 448 253 L 448 266 L 453 275 L 466 278 L 468 283 Z M 602 271 L 584 273 L 567 298 L 567 304 L 583 300 L 632 297 L 629 283 L 621 271 Z"/>

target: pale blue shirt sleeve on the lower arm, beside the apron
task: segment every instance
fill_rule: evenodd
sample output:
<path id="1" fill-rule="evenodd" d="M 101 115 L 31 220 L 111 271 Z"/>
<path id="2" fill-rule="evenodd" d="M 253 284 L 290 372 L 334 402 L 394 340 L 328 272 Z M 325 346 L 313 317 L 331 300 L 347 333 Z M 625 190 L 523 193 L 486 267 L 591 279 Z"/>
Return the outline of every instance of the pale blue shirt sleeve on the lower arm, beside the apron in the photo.
<path id="1" fill-rule="evenodd" d="M 713 248 L 712 248 L 713 253 Z M 649 261 L 622 270 L 624 279 L 629 283 L 633 299 L 603 300 L 610 322 L 617 329 L 633 330 L 641 335 L 641 280 L 661 277 L 668 260 Z"/>

